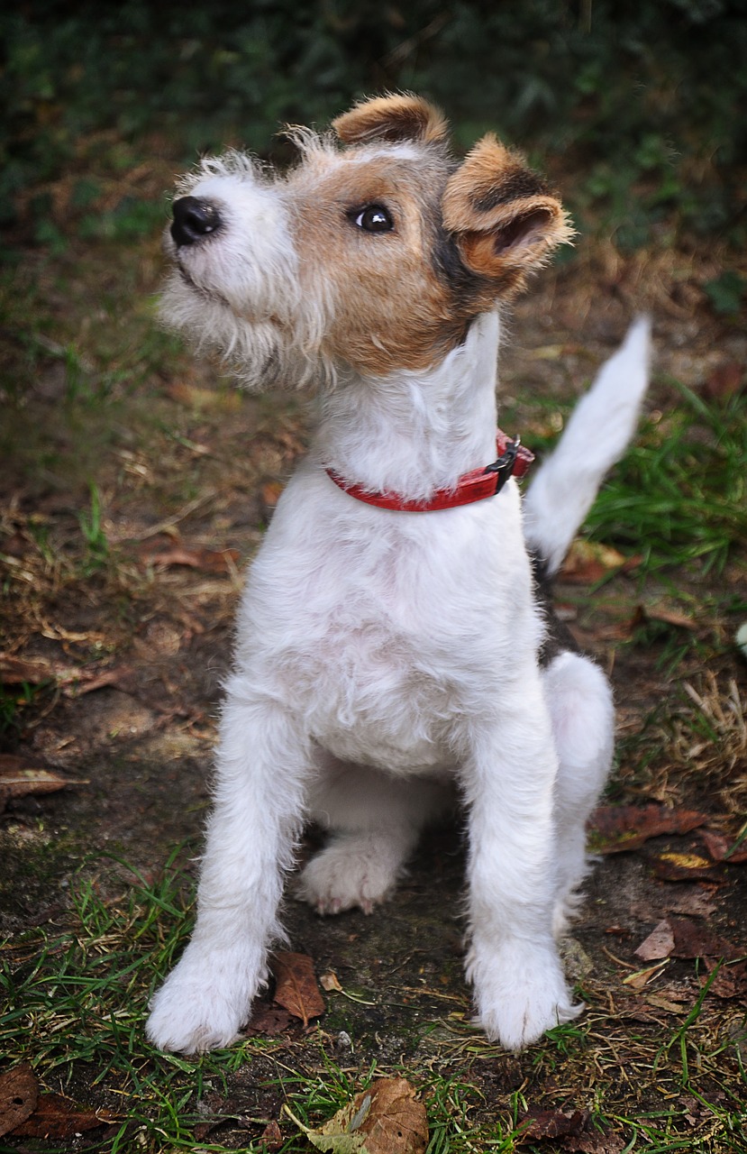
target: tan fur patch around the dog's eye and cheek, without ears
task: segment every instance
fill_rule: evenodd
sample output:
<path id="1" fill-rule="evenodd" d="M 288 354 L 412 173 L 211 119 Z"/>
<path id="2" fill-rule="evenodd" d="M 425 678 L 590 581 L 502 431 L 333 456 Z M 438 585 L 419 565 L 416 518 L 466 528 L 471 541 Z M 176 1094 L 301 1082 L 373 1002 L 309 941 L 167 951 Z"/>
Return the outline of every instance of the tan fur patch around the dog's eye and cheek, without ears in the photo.
<path id="1" fill-rule="evenodd" d="M 299 173 L 296 245 L 309 291 L 319 280 L 331 290 L 325 351 L 334 359 L 375 374 L 417 370 L 463 338 L 467 319 L 432 258 L 447 175 L 446 162 L 430 151 L 416 165 L 342 153 L 311 185 L 308 172 Z M 355 225 L 355 211 L 368 204 L 386 207 L 392 232 Z"/>

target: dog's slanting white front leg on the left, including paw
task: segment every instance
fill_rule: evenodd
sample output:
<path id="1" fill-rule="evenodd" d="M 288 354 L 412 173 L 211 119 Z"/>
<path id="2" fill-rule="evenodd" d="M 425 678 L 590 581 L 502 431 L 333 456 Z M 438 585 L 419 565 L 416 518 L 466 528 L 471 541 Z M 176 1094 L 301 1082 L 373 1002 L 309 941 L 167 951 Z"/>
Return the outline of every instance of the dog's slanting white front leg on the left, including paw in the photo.
<path id="1" fill-rule="evenodd" d="M 233 677 L 195 930 L 151 1003 L 146 1032 L 160 1049 L 228 1046 L 247 1021 L 266 977 L 267 947 L 280 932 L 278 905 L 310 764 L 297 720 Z"/>

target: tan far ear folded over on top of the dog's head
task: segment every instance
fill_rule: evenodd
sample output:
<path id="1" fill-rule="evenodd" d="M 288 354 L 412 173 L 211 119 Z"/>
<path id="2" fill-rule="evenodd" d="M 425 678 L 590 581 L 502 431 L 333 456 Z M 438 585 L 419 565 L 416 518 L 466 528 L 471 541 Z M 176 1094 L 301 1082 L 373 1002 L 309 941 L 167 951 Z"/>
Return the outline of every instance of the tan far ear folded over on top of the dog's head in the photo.
<path id="1" fill-rule="evenodd" d="M 420 96 L 375 96 L 361 100 L 332 121 L 345 144 L 370 141 L 420 141 L 431 144 L 446 137 L 448 126 L 438 108 Z"/>

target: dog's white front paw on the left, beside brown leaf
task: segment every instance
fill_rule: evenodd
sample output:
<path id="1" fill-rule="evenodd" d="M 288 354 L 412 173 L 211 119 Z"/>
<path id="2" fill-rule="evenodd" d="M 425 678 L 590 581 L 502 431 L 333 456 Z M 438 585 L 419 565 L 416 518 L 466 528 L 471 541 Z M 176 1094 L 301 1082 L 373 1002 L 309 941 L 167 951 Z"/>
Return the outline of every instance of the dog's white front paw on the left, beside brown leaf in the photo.
<path id="1" fill-rule="evenodd" d="M 179 1054 L 231 1046 L 249 1018 L 258 984 L 241 980 L 225 960 L 197 959 L 188 949 L 151 999 L 146 1036 L 159 1050 Z"/>

